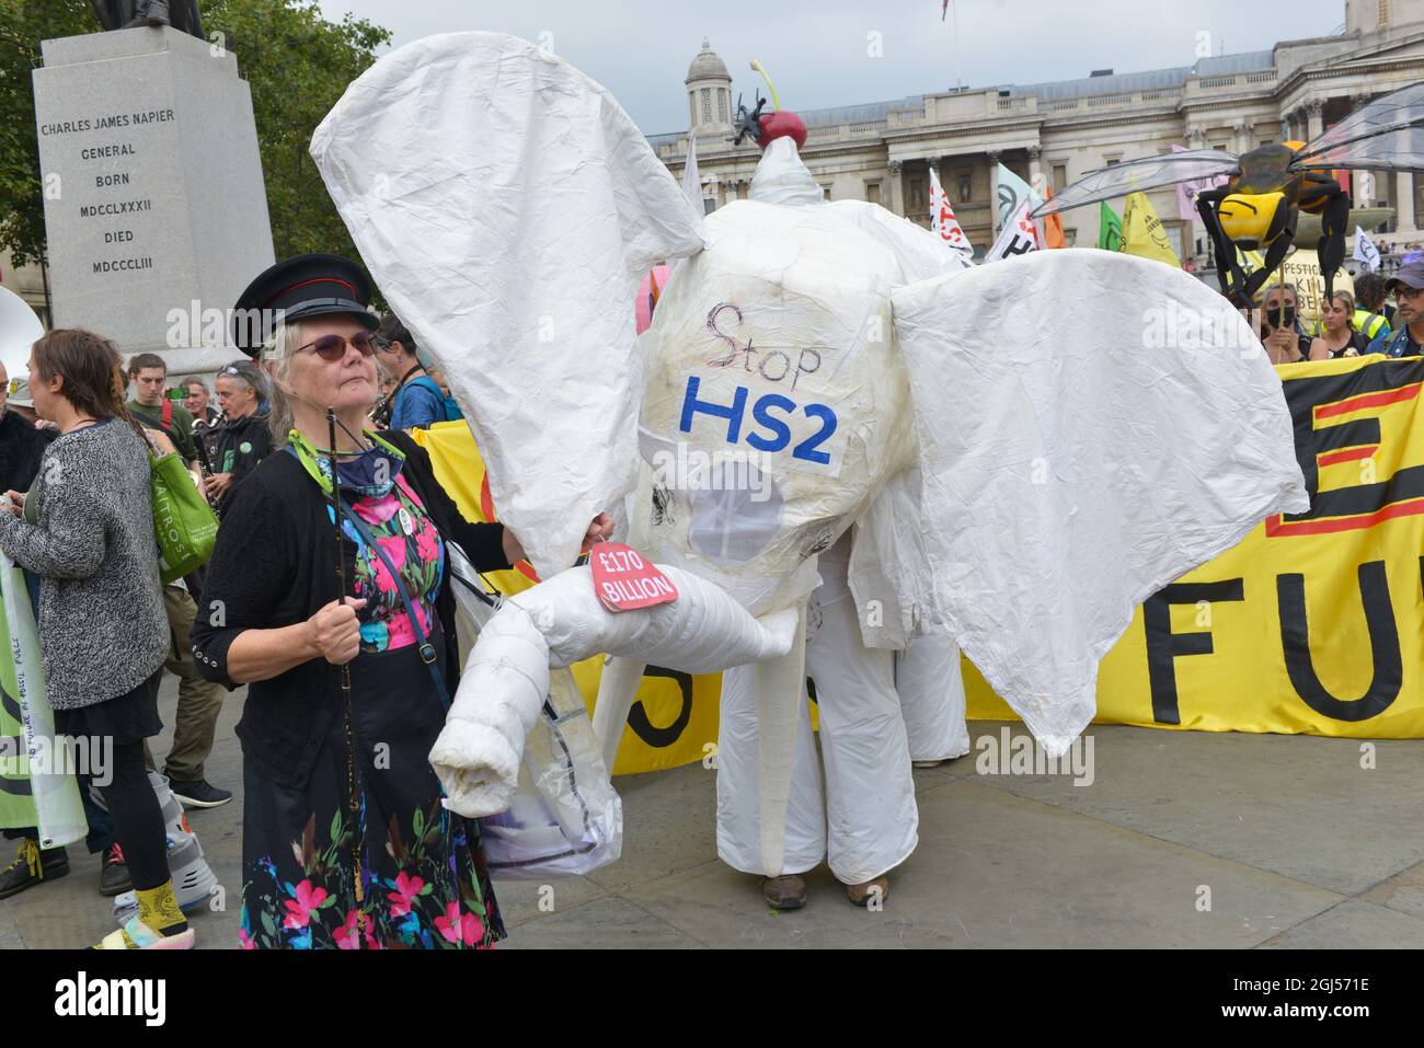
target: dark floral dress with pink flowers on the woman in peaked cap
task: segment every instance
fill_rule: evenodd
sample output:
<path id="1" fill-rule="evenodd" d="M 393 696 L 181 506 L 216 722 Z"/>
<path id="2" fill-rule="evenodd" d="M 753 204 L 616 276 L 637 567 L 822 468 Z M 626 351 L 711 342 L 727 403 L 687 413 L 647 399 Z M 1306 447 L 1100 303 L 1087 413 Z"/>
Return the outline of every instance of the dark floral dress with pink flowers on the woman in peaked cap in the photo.
<path id="1" fill-rule="evenodd" d="M 389 494 L 363 496 L 352 510 L 400 572 L 443 674 L 434 599 L 446 554 L 434 523 L 399 474 Z M 342 527 L 357 548 L 355 595 L 367 598 L 360 654 L 350 664 L 352 746 L 347 719 L 337 713 L 306 786 L 282 786 L 245 766 L 239 945 L 490 947 L 504 937 L 504 926 L 478 823 L 440 803 L 440 782 L 427 758 L 444 725 L 443 701 L 420 661 L 394 580 L 350 523 L 343 520 Z M 347 800 L 352 777 L 355 819 Z"/>

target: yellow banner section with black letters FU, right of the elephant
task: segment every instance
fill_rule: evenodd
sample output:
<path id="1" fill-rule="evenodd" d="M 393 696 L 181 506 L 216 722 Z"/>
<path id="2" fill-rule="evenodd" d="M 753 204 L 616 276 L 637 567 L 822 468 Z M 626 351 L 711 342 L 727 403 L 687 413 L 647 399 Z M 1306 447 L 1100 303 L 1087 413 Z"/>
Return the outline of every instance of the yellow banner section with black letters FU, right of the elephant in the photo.
<path id="1" fill-rule="evenodd" d="M 1138 608 L 1098 720 L 1424 738 L 1424 359 L 1277 369 L 1310 511 L 1272 517 Z M 1011 718 L 965 668 L 973 718 Z"/>

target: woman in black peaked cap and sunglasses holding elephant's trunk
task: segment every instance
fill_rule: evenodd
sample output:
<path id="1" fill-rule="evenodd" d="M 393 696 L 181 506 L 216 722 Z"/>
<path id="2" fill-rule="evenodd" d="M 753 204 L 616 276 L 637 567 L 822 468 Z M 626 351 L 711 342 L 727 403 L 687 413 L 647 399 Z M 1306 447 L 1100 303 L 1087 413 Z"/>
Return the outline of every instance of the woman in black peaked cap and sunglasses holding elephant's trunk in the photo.
<path id="1" fill-rule="evenodd" d="M 363 430 L 369 293 L 355 265 L 308 256 L 244 296 L 285 309 L 266 346 L 285 447 L 232 493 L 204 590 L 221 614 L 192 641 L 211 679 L 251 685 L 238 725 L 246 948 L 487 947 L 504 934 L 478 823 L 440 803 L 427 755 L 459 674 L 446 544 L 486 571 L 524 551 L 503 525 L 466 521 L 406 434 Z M 600 514 L 590 541 L 611 527 Z"/>

